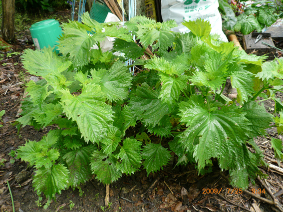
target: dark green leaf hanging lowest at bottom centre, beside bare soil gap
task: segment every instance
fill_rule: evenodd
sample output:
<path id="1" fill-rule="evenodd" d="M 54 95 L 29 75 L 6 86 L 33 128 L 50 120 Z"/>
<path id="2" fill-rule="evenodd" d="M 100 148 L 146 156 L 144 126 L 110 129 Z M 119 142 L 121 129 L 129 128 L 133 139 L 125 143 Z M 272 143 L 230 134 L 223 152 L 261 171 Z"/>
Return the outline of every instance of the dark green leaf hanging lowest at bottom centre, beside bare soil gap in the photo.
<path id="1" fill-rule="evenodd" d="M 143 147 L 142 158 L 145 160 L 143 166 L 147 175 L 160 169 L 163 170 L 162 166 L 167 165 L 171 158 L 170 151 L 162 147 L 161 144 L 147 144 Z"/>

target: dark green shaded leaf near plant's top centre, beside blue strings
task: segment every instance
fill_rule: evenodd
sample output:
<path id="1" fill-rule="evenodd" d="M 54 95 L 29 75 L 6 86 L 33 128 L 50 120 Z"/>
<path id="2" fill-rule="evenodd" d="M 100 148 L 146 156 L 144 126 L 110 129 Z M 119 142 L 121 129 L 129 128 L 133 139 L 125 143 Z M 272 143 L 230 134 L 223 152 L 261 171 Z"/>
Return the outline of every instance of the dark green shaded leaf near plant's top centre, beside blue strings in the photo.
<path id="1" fill-rule="evenodd" d="M 144 48 L 139 47 L 135 42 L 127 42 L 121 39 L 115 39 L 113 49 L 116 52 L 125 54 L 126 58 L 136 59 L 143 55 Z"/>

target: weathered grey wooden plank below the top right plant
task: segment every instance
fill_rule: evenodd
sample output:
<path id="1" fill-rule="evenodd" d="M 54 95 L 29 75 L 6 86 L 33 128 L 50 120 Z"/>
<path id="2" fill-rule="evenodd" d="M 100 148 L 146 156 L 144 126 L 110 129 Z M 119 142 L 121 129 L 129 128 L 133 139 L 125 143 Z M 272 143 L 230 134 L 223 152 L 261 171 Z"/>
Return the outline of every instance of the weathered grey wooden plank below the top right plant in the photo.
<path id="1" fill-rule="evenodd" d="M 264 41 L 265 43 L 275 46 L 270 37 L 263 38 L 259 42 L 255 43 L 256 39 L 256 37 L 252 37 L 252 34 L 246 34 L 243 36 L 244 50 L 248 54 L 252 52 L 255 52 L 255 54 L 259 56 L 266 54 L 269 56 L 267 60 L 273 60 L 277 57 L 277 51 L 275 48 L 262 44 L 262 41 Z"/>

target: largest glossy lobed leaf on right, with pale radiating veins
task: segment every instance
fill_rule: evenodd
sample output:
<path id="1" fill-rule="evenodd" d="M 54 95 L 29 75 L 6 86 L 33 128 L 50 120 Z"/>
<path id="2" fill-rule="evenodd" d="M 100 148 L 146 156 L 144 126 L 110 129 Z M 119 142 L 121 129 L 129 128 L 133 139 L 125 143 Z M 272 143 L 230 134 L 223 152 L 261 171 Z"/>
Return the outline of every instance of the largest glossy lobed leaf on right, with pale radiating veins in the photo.
<path id="1" fill-rule="evenodd" d="M 180 112 L 180 121 L 187 122 L 189 127 L 179 142 L 184 148 L 194 151 L 199 170 L 208 160 L 220 155 L 229 138 L 239 144 L 247 139 L 250 123 L 245 113 L 235 105 L 210 112 L 192 99 L 180 104 Z"/>

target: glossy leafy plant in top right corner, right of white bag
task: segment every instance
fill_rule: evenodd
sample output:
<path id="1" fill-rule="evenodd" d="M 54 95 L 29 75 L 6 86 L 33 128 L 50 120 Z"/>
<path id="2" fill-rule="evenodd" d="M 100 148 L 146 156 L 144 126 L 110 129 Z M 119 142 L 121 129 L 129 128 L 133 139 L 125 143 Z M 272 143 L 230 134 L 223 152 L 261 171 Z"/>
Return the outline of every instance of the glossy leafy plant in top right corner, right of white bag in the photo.
<path id="1" fill-rule="evenodd" d="M 230 30 L 249 34 L 254 30 L 262 32 L 265 26 L 271 26 L 282 14 L 282 7 L 277 2 L 264 0 L 256 1 L 247 6 L 244 13 L 236 17 L 233 6 L 226 0 L 219 1 L 219 10 L 224 15 L 224 27 Z M 258 4 L 262 4 L 258 6 Z M 242 7 L 243 8 L 243 7 Z M 238 11 L 238 8 L 236 9 Z"/>

